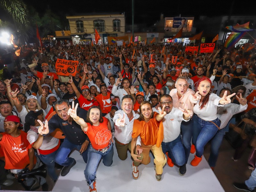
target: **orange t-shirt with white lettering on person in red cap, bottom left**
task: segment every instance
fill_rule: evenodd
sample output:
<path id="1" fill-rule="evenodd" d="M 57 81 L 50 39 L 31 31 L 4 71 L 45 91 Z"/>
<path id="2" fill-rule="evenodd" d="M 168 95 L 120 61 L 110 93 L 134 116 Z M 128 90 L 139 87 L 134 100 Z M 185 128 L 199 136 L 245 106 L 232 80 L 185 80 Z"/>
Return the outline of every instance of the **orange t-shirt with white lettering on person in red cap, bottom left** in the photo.
<path id="1" fill-rule="evenodd" d="M 5 132 L 1 134 L 3 138 L 0 147 L 5 157 L 4 169 L 24 169 L 30 163 L 28 149 L 32 148 L 27 140 L 27 133 L 21 130 L 18 137 L 12 137 Z M 35 156 L 34 164 L 36 164 Z"/>

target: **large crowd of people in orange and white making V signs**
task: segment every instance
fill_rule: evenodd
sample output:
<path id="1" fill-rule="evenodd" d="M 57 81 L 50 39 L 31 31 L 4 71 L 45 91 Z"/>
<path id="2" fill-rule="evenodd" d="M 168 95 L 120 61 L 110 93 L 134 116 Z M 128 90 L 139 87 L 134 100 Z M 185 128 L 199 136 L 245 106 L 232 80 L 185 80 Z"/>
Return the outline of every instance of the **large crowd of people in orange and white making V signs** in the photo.
<path id="1" fill-rule="evenodd" d="M 219 45 L 187 55 L 180 43 L 23 46 L 23 57 L 6 63 L 0 80 L 0 184 L 12 184 L 6 170 L 18 175 L 40 161 L 56 181 L 56 164 L 63 166 L 61 176 L 76 164 L 73 149 L 82 154 L 90 191 L 96 191 L 101 158 L 110 166 L 114 150 L 120 160 L 131 152 L 135 180 L 151 151 L 160 181 L 166 162 L 183 176 L 190 153 L 189 163 L 197 166 L 211 142 L 214 170 L 230 123 L 244 120 L 247 134 L 255 134 L 255 50 Z M 57 59 L 78 61 L 75 76 L 56 75 Z M 249 141 L 236 149 L 234 161 Z M 44 178 L 23 182 L 33 190 L 39 181 L 47 190 Z"/>

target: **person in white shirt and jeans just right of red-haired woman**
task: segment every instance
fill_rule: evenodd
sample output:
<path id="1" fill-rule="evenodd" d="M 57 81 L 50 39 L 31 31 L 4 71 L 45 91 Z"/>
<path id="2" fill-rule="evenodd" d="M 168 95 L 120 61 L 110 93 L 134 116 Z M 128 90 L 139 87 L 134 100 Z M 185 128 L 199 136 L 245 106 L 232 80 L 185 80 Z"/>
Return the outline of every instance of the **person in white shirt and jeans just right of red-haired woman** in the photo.
<path id="1" fill-rule="evenodd" d="M 220 91 L 220 98 L 223 97 L 225 91 L 227 91 L 227 96 L 231 94 L 230 89 L 223 88 Z M 227 105 L 224 105 L 223 107 L 218 107 L 217 109 L 217 117 L 220 119 L 221 124 L 220 129 L 217 131 L 217 133 L 211 140 L 211 154 L 208 159 L 208 162 L 212 170 L 214 170 L 214 167 L 219 156 L 220 145 L 225 134 L 224 128 L 227 126 L 229 120 L 232 118 L 233 115 L 244 111 L 248 107 L 247 100 L 245 98 L 242 98 L 241 93 L 239 97 L 236 95 L 236 98 L 238 99 L 240 105 L 237 105 L 235 103 L 229 103 Z"/>

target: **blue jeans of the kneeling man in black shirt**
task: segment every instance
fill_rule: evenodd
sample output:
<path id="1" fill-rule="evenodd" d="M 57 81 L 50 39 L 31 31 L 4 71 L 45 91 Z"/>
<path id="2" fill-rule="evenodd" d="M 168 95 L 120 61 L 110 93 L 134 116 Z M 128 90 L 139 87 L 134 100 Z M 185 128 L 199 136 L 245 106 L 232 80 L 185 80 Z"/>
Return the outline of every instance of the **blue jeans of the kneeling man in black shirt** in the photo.
<path id="1" fill-rule="evenodd" d="M 73 149 L 77 149 L 78 151 L 81 149 L 82 145 L 75 145 L 73 143 L 70 143 L 67 138 L 64 139 L 63 143 L 60 145 L 60 148 L 55 156 L 55 162 L 57 164 L 60 164 L 62 166 L 68 166 L 71 165 L 75 159 L 68 157 L 69 153 Z M 87 163 L 87 153 L 88 148 L 82 153 L 84 162 Z"/>

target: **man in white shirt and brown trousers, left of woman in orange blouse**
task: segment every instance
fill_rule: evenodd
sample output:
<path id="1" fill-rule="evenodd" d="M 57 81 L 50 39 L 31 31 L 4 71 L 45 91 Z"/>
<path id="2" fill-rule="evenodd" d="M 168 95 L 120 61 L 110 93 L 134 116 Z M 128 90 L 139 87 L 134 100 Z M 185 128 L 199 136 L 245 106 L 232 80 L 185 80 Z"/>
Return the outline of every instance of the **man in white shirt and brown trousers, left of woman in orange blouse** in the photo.
<path id="1" fill-rule="evenodd" d="M 133 122 L 134 119 L 139 118 L 139 114 L 136 114 L 133 111 L 133 98 L 131 95 L 125 95 L 122 99 L 122 109 L 116 111 L 113 121 L 115 123 L 115 144 L 118 157 L 121 160 L 125 160 L 127 158 L 127 150 L 131 151 L 131 143 L 132 143 L 132 130 L 133 130 Z M 140 138 L 138 138 L 136 142 L 136 148 L 139 149 Z M 136 155 L 138 159 L 142 159 L 142 154 Z M 139 170 L 138 166 L 134 166 L 132 162 L 132 176 L 133 179 L 138 179 Z"/>

